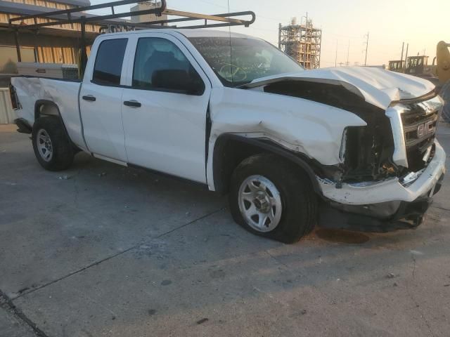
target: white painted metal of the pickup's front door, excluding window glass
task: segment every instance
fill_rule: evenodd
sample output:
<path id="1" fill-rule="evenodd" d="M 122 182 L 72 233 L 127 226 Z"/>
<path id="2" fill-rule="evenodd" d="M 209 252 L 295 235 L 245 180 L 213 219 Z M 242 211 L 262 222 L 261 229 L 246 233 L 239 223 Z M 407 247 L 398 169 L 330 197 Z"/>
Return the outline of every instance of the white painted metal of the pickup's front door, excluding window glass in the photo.
<path id="1" fill-rule="evenodd" d="M 131 86 L 137 38 L 164 37 L 172 41 L 200 74 L 202 95 L 124 88 L 122 100 L 136 100 L 141 107 L 122 105 L 123 130 L 128 162 L 174 176 L 206 183 L 205 130 L 211 84 L 188 49 L 169 34 L 152 31 L 132 35 L 126 86 Z"/>

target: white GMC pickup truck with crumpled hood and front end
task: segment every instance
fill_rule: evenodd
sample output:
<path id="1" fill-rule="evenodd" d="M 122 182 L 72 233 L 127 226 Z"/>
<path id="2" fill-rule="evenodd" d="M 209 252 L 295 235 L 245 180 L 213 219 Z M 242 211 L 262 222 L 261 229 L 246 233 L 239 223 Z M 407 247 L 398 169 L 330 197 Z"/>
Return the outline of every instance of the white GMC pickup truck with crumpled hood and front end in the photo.
<path id="1" fill-rule="evenodd" d="M 371 67 L 305 71 L 266 41 L 205 29 L 103 34 L 82 81 L 11 86 L 44 169 L 68 169 L 83 150 L 193 180 L 281 242 L 318 221 L 419 225 L 445 171 L 434 89 Z"/>

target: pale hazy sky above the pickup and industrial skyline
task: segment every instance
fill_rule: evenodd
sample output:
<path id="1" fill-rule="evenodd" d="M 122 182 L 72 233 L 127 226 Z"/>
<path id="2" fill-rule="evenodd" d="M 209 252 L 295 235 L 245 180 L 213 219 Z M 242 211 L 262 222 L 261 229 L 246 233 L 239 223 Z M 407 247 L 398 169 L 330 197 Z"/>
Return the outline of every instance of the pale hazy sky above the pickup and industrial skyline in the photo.
<path id="1" fill-rule="evenodd" d="M 91 0 L 91 4 L 105 2 Z M 254 11 L 255 23 L 248 28 L 231 27 L 231 31 L 276 46 L 279 23 L 288 25 L 293 17 L 300 22 L 308 15 L 313 25 L 322 29 L 321 67 L 345 64 L 347 53 L 349 65 L 364 65 L 366 34 L 368 65 L 399 60 L 403 42 L 405 52 L 409 43 L 409 56 L 425 53 L 431 63 L 437 42 L 450 42 L 450 0 L 167 0 L 167 8 L 204 14 L 226 13 L 228 8 L 231 12 Z"/>

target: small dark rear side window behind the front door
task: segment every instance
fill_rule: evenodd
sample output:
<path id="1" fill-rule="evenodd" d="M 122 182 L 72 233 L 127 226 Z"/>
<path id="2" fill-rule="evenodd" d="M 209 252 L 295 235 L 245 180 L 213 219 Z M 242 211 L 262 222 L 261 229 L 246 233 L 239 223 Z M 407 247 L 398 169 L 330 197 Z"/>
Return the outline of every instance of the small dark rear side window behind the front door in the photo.
<path id="1" fill-rule="evenodd" d="M 103 41 L 98 46 L 92 81 L 105 86 L 118 86 L 128 39 Z"/>

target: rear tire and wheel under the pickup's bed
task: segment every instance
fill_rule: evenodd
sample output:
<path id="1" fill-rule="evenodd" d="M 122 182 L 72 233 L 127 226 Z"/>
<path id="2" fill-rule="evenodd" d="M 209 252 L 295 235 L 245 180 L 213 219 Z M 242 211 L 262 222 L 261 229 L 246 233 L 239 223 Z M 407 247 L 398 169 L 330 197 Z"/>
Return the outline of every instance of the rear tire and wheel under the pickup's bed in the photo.
<path id="1" fill-rule="evenodd" d="M 58 117 L 41 117 L 32 129 L 34 155 L 49 171 L 63 171 L 73 162 L 75 152 Z"/>

